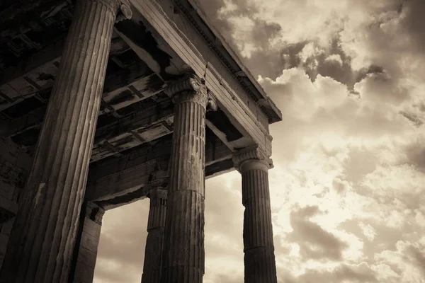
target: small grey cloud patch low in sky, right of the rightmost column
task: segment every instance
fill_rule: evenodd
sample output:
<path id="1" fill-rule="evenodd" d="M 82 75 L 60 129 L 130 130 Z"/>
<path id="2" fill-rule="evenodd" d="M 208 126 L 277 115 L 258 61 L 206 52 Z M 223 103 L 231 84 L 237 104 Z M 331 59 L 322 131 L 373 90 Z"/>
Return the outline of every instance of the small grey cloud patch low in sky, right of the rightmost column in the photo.
<path id="1" fill-rule="evenodd" d="M 291 212 L 290 225 L 293 232 L 288 234 L 288 241 L 300 246 L 300 254 L 306 260 L 342 260 L 342 251 L 348 245 L 310 221 L 316 214 L 319 214 L 318 207 L 305 207 Z"/>

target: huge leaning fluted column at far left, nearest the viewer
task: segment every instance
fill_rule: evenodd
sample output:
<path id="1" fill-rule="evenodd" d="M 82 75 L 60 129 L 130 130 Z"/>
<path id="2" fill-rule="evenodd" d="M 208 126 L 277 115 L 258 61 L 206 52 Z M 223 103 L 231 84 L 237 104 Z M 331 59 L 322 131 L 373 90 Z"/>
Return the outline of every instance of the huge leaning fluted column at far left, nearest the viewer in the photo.
<path id="1" fill-rule="evenodd" d="M 2 283 L 68 282 L 118 0 L 77 0 Z M 122 18 L 122 16 L 120 16 Z"/>

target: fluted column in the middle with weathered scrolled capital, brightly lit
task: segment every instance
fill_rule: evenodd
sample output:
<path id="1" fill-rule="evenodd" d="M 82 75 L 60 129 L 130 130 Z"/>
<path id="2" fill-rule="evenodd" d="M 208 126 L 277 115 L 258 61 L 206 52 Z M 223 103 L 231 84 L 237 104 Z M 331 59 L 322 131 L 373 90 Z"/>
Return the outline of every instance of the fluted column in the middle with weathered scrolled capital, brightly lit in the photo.
<path id="1" fill-rule="evenodd" d="M 200 283 L 205 265 L 205 112 L 215 104 L 196 76 L 165 91 L 175 106 L 162 282 Z"/>

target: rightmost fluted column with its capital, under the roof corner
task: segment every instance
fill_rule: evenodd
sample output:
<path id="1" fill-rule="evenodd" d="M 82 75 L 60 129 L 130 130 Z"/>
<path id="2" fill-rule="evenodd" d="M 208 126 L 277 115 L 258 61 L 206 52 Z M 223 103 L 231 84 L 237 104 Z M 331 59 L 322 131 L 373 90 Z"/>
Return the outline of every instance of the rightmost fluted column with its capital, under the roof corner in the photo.
<path id="1" fill-rule="evenodd" d="M 242 173 L 244 282 L 277 283 L 268 188 L 271 159 L 260 149 L 249 149 L 234 156 L 233 160 Z"/>

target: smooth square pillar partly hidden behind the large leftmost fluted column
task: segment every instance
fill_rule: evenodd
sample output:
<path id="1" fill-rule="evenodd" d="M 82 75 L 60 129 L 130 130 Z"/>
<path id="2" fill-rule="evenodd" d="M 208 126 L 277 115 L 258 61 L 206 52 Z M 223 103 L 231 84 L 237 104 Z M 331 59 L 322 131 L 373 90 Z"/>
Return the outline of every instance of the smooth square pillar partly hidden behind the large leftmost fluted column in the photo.
<path id="1" fill-rule="evenodd" d="M 93 202 L 82 205 L 69 282 L 93 282 L 103 214 L 105 209 Z"/>

